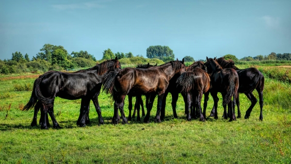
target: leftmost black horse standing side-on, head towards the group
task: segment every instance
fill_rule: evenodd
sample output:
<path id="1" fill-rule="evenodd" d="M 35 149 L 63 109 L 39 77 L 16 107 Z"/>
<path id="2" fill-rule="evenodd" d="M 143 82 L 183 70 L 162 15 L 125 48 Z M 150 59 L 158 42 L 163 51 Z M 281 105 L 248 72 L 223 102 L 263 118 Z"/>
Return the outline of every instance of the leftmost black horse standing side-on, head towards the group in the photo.
<path id="1" fill-rule="evenodd" d="M 40 75 L 33 84 L 32 96 L 23 110 L 29 110 L 34 107 L 34 117 L 32 126 L 36 125 L 36 116 L 39 108 L 41 109 L 41 129 L 48 129 L 48 115 L 51 116 L 53 127 L 60 128 L 53 115 L 54 98 L 60 97 L 65 99 L 81 98 L 80 115 L 77 125 L 80 127 L 90 123 L 89 105 L 93 101 L 99 119 L 99 125 L 104 124 L 98 95 L 101 90 L 104 76 L 109 71 L 119 71 L 121 65 L 117 59 L 107 60 L 88 69 L 79 70 L 72 73 L 49 71 Z"/>

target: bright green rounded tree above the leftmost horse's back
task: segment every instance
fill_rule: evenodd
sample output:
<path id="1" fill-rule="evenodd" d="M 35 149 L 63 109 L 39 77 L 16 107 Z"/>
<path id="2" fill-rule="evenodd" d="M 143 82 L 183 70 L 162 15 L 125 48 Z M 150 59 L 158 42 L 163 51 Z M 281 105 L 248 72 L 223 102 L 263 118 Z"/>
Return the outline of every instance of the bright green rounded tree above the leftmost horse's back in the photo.
<path id="1" fill-rule="evenodd" d="M 55 49 L 51 55 L 51 64 L 57 64 L 66 68 L 70 67 L 70 63 L 67 59 L 67 54 L 63 49 Z"/>

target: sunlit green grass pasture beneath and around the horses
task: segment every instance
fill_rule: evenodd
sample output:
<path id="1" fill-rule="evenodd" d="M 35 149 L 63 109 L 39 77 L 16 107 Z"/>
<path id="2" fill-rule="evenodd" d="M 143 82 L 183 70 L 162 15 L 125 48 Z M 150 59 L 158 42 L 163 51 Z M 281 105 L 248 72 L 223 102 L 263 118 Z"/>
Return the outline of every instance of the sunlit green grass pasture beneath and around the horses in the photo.
<path id="1" fill-rule="evenodd" d="M 0 76 L 0 164 L 291 163 L 291 85 L 288 77 L 282 80 L 275 76 L 282 71 L 290 72 L 291 68 L 259 66 L 258 69 L 265 76 L 263 121 L 259 121 L 259 102 L 250 118 L 243 118 L 250 106 L 243 94 L 240 94 L 242 118 L 236 121 L 222 118 L 220 94 L 219 119 L 187 121 L 181 95 L 177 102 L 178 119 L 174 119 L 169 94 L 162 123 L 154 123 L 156 98 L 150 123 L 133 119 L 126 125 L 112 125 L 113 100 L 101 93 L 98 99 L 104 125 L 98 126 L 92 101 L 91 125 L 80 128 L 76 121 L 81 100 L 56 98 L 54 113 L 63 128 L 58 130 L 31 127 L 33 110 L 21 111 L 31 96 L 30 86 L 39 75 Z M 258 93 L 253 93 L 258 98 Z M 212 106 L 210 96 L 207 116 Z M 126 116 L 128 113 L 126 97 Z M 38 120 L 39 117 L 40 114 Z"/>

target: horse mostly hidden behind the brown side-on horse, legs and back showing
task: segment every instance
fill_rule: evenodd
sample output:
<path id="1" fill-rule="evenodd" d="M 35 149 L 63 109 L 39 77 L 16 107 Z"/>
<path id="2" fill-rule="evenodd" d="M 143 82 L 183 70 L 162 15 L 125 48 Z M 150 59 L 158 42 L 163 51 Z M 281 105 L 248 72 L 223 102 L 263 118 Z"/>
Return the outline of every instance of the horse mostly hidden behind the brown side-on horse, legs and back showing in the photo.
<path id="1" fill-rule="evenodd" d="M 147 63 L 147 65 L 138 65 L 136 66 L 136 68 L 150 68 L 150 67 L 153 67 L 153 66 L 157 66 L 158 63 L 156 65 L 150 65 L 149 63 Z M 134 104 L 134 110 L 133 110 L 133 114 L 132 114 L 132 117 L 131 117 L 131 110 L 132 110 L 132 96 L 131 95 L 128 95 L 128 98 L 129 98 L 129 117 L 128 117 L 128 120 L 130 121 L 131 118 L 134 118 L 135 117 L 135 113 L 136 113 L 136 110 L 137 110 L 137 118 L 136 120 L 137 121 L 141 121 L 141 116 L 140 116 L 140 106 L 142 107 L 142 116 L 145 116 L 145 108 L 144 108 L 144 101 L 140 96 L 137 96 L 136 97 L 136 101 L 135 101 L 135 104 Z"/>

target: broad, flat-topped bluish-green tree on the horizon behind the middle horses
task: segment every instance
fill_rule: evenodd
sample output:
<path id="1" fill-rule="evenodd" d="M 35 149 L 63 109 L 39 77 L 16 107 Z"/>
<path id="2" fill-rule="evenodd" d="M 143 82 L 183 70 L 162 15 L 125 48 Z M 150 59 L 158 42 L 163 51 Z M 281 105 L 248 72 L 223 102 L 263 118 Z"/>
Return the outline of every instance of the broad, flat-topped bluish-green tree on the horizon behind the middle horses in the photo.
<path id="1" fill-rule="evenodd" d="M 175 55 L 173 53 L 173 50 L 170 49 L 168 46 L 149 46 L 146 49 L 146 57 L 150 59 L 157 58 L 161 60 L 163 59 L 168 60 L 168 58 L 164 57 L 170 57 L 172 58 L 172 60 L 174 60 Z"/>

